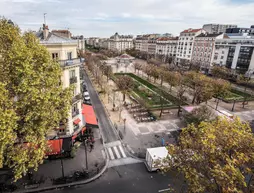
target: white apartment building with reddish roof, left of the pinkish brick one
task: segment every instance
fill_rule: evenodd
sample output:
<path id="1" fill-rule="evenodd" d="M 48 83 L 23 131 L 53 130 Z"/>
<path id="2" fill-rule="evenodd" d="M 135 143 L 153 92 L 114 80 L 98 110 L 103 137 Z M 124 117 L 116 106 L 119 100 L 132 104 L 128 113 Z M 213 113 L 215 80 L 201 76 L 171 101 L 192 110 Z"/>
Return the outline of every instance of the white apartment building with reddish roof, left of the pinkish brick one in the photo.
<path id="1" fill-rule="evenodd" d="M 176 52 L 176 62 L 191 61 L 195 37 L 205 33 L 203 29 L 187 29 L 180 33 Z"/>

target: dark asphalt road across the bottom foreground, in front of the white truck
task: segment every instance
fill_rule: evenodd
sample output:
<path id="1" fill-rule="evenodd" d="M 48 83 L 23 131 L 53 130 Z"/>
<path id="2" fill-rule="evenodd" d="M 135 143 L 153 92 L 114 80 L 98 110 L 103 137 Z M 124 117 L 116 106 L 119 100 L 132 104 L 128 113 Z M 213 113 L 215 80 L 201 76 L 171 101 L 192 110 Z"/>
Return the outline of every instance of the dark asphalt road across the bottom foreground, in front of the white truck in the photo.
<path id="1" fill-rule="evenodd" d="M 169 188 L 169 184 L 180 187 L 176 175 L 150 173 L 144 163 L 109 168 L 99 179 L 79 187 L 50 191 L 53 193 L 156 193 Z M 176 189 L 179 192 L 179 189 Z"/>

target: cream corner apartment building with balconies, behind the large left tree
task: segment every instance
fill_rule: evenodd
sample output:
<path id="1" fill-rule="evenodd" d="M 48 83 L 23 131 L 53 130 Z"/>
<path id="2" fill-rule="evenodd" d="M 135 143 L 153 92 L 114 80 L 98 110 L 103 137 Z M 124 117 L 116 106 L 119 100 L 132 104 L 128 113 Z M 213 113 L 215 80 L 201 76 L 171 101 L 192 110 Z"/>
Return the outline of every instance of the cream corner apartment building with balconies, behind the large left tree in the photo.
<path id="1" fill-rule="evenodd" d="M 63 87 L 74 86 L 72 106 L 67 120 L 67 124 L 60 124 L 50 136 L 76 136 L 85 125 L 82 118 L 82 95 L 80 92 L 80 66 L 83 59 L 77 57 L 78 41 L 59 33 L 49 32 L 48 26 L 43 25 L 43 29 L 35 34 L 40 40 L 40 44 L 45 46 L 53 59 L 59 62 L 62 67 L 61 81 Z"/>

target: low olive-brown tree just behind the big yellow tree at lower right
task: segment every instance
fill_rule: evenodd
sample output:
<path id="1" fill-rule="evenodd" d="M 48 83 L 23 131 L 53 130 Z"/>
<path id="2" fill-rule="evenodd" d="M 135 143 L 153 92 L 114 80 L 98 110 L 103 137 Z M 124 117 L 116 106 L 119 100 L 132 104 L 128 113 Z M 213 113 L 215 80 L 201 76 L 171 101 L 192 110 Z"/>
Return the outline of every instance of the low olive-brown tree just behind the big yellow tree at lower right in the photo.
<path id="1" fill-rule="evenodd" d="M 210 121 L 214 119 L 214 113 L 205 105 L 193 109 L 190 113 L 186 113 L 184 118 L 187 123 L 199 125 L 202 121 Z"/>

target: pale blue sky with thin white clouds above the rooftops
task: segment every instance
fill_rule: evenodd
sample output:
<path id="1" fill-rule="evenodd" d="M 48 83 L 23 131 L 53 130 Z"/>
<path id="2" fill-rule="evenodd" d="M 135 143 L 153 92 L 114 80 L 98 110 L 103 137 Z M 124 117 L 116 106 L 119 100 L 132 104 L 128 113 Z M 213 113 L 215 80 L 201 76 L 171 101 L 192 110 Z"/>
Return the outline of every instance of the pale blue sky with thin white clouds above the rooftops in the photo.
<path id="1" fill-rule="evenodd" d="M 50 30 L 84 37 L 172 33 L 203 24 L 254 25 L 254 0 L 0 0 L 0 16 L 24 30 L 38 30 L 46 14 Z"/>

